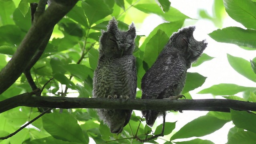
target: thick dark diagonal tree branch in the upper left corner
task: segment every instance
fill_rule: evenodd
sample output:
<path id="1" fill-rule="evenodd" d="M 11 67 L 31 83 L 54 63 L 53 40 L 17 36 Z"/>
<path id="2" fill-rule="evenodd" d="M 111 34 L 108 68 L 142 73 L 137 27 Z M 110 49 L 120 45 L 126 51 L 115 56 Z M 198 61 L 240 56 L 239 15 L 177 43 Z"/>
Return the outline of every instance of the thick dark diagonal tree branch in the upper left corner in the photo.
<path id="1" fill-rule="evenodd" d="M 78 0 L 54 0 L 51 5 L 34 18 L 34 22 L 12 56 L 0 72 L 0 94 L 9 88 L 27 67 L 38 47 L 45 41 L 55 24 L 65 16 Z M 38 15 L 35 15 L 38 16 Z"/>

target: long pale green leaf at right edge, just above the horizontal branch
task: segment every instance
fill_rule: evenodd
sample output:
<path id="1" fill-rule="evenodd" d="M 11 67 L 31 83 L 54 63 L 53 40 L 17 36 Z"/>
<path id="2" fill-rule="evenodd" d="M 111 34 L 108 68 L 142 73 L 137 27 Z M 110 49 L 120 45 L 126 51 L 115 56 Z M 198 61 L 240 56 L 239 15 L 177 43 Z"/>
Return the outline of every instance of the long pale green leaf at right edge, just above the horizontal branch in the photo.
<path id="1" fill-rule="evenodd" d="M 236 84 L 217 84 L 213 85 L 210 88 L 206 88 L 198 92 L 198 94 L 213 94 L 219 96 L 226 96 L 226 95 L 234 95 L 238 92 L 243 92 L 246 90 L 255 90 L 256 88 L 252 87 L 245 87 L 245 86 L 238 86 Z"/>

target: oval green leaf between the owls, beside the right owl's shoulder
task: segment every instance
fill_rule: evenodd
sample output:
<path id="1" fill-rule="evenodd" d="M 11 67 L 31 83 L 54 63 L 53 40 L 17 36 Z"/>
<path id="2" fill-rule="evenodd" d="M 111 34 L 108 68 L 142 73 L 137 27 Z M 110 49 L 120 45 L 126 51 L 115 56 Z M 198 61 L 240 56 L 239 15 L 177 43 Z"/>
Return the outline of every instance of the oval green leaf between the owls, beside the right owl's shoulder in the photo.
<path id="1" fill-rule="evenodd" d="M 154 64 L 156 58 L 158 57 L 168 40 L 168 36 L 162 30 L 158 30 L 156 34 L 152 38 L 150 38 L 150 40 L 146 44 L 143 59 L 144 62 L 148 64 L 149 68 Z"/>

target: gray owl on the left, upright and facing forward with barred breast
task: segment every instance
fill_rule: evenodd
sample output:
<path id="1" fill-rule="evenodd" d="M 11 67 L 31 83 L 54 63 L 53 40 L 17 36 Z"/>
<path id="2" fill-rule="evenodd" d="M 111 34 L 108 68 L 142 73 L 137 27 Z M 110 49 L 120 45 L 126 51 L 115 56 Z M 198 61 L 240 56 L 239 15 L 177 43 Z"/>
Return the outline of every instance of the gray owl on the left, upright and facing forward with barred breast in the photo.
<path id="1" fill-rule="evenodd" d="M 107 31 L 100 37 L 98 66 L 93 78 L 93 98 L 135 98 L 137 73 L 135 67 L 135 26 L 128 31 L 117 27 L 115 18 L 109 21 Z M 132 110 L 97 109 L 98 116 L 112 133 L 120 133 L 128 124 Z"/>

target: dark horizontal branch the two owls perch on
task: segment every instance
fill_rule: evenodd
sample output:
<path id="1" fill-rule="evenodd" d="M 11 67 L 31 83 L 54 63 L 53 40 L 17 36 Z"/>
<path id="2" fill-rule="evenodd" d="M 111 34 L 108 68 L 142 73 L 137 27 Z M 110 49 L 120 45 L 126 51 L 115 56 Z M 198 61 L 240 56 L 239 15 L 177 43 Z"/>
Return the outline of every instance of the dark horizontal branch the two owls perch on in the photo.
<path id="1" fill-rule="evenodd" d="M 41 108 L 111 108 L 131 110 L 202 110 L 230 112 L 235 110 L 256 111 L 256 103 L 226 99 L 162 100 L 162 99 L 108 99 L 108 98 L 63 98 L 34 96 L 25 93 L 0 102 L 0 113 L 17 106 Z"/>

